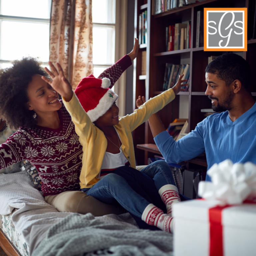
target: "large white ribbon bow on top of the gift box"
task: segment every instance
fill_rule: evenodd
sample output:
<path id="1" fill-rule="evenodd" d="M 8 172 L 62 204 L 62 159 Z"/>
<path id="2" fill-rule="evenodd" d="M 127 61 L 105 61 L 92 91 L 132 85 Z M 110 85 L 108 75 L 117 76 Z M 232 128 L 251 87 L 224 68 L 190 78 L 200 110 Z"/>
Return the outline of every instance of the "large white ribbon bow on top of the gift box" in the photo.
<path id="1" fill-rule="evenodd" d="M 242 204 L 256 197 L 256 165 L 225 160 L 214 164 L 207 172 L 211 182 L 199 182 L 198 195 L 208 200 L 219 200 L 221 205 Z"/>

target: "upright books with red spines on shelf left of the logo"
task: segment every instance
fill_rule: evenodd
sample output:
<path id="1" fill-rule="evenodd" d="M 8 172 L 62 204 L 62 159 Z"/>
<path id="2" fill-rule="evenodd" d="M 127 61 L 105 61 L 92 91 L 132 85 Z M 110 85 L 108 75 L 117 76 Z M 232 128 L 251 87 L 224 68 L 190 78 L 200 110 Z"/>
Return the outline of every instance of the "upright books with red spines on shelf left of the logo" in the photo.
<path id="1" fill-rule="evenodd" d="M 166 27 L 166 51 L 189 49 L 191 47 L 191 21 Z"/>

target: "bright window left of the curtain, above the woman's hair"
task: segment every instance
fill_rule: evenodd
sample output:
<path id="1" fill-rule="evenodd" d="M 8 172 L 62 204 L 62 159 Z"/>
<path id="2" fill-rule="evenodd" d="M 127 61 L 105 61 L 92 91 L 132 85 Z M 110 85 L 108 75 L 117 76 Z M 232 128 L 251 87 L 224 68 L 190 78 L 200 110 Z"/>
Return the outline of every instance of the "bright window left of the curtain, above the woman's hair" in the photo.
<path id="1" fill-rule="evenodd" d="M 49 61 L 51 0 L 0 0 L 0 67 L 23 56 Z"/>

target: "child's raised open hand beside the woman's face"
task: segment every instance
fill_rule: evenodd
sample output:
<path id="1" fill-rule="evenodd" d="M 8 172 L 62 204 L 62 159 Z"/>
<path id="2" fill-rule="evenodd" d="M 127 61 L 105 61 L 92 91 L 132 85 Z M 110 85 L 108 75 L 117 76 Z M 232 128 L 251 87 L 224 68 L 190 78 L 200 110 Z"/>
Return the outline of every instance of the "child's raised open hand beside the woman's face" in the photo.
<path id="1" fill-rule="evenodd" d="M 66 101 L 70 101 L 73 96 L 73 91 L 70 83 L 63 74 L 61 65 L 59 63 L 56 63 L 59 70 L 58 72 L 50 61 L 48 62 L 48 64 L 51 67 L 52 72 L 47 67 L 45 67 L 44 69 L 52 78 L 52 81 L 46 78 L 45 76 L 42 76 L 42 79 L 48 84 L 50 84 L 55 91 L 57 91 L 60 95 L 62 95 L 65 98 Z"/>

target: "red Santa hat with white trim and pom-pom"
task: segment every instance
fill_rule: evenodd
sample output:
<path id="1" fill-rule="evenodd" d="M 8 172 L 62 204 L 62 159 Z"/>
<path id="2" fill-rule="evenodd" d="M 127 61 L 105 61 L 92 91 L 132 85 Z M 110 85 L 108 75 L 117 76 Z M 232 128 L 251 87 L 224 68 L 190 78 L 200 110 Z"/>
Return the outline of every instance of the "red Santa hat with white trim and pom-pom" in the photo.
<path id="1" fill-rule="evenodd" d="M 118 99 L 118 95 L 109 86 L 108 78 L 89 75 L 75 89 L 77 98 L 92 122 L 103 116 Z"/>

